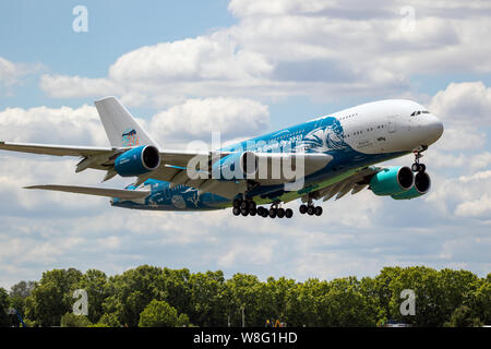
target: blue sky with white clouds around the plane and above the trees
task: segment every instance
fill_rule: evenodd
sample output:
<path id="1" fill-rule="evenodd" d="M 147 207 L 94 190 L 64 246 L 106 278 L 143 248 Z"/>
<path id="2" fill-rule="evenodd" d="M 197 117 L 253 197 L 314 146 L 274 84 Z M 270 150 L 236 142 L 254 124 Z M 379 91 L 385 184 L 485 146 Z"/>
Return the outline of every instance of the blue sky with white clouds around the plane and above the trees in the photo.
<path id="1" fill-rule="evenodd" d="M 384 266 L 491 272 L 491 3 L 430 0 L 0 2 L 0 140 L 108 145 L 93 101 L 117 96 L 164 148 L 242 140 L 405 98 L 445 125 L 431 192 L 370 191 L 321 217 L 139 212 L 23 190 L 120 186 L 77 159 L 0 153 L 0 287 L 75 267 L 333 279 Z M 406 156 L 384 165 L 411 165 Z"/>

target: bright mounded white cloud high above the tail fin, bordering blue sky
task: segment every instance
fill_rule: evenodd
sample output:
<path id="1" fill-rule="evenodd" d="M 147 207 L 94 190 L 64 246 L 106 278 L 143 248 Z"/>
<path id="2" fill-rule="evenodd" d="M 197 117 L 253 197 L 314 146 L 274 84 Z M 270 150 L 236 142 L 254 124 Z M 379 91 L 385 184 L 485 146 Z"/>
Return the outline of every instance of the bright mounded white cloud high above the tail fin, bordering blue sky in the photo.
<path id="1" fill-rule="evenodd" d="M 110 67 L 109 77 L 120 83 L 247 81 L 267 75 L 271 70 L 261 55 L 241 49 L 227 36 L 215 33 L 125 53 Z"/>

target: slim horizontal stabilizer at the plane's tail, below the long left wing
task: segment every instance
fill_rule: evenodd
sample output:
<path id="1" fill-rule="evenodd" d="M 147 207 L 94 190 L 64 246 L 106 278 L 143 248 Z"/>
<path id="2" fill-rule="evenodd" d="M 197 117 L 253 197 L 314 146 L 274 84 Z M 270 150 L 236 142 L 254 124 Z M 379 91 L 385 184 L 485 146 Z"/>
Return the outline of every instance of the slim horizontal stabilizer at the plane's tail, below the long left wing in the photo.
<path id="1" fill-rule="evenodd" d="M 86 195 L 109 196 L 119 197 L 123 200 L 143 198 L 149 195 L 149 191 L 144 190 L 124 190 L 124 189 L 109 189 L 109 188 L 95 188 L 95 186 L 75 186 L 75 185 L 31 185 L 24 186 L 24 189 L 41 189 L 52 190 L 58 192 L 68 192 Z"/>

